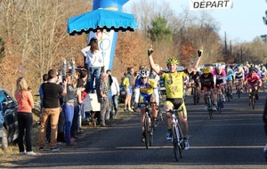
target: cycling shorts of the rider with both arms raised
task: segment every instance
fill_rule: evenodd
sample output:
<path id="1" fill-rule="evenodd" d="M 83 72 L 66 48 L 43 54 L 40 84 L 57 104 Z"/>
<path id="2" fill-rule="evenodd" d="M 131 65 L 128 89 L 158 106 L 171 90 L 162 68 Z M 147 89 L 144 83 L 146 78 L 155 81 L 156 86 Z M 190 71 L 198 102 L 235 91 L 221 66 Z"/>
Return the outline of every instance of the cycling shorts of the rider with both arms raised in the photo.
<path id="1" fill-rule="evenodd" d="M 187 117 L 187 110 L 182 98 L 166 98 L 165 106 L 172 106 L 174 109 L 182 110 L 184 117 Z M 178 112 L 178 115 L 182 115 L 182 111 Z"/>

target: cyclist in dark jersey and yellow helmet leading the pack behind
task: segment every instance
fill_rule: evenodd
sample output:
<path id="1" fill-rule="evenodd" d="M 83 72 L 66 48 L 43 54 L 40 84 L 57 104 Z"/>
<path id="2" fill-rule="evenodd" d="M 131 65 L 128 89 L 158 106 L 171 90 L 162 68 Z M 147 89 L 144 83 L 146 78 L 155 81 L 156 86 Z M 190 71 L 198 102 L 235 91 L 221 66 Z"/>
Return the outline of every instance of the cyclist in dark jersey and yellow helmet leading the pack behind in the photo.
<path id="1" fill-rule="evenodd" d="M 209 68 L 203 68 L 202 75 L 200 76 L 200 82 L 201 82 L 201 91 L 204 91 L 203 93 L 203 100 L 205 101 L 205 108 L 207 109 L 207 101 L 206 101 L 206 92 L 210 91 L 211 93 L 211 99 L 213 102 L 213 111 L 216 111 L 216 101 L 215 101 L 215 93 L 214 93 L 214 76 L 209 71 Z"/>

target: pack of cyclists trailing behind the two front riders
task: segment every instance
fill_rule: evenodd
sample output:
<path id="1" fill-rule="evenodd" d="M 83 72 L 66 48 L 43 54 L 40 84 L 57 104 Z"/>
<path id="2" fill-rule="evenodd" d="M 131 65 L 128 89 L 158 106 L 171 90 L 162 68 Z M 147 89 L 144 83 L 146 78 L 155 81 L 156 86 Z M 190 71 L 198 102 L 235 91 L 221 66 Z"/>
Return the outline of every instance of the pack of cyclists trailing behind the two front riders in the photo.
<path id="1" fill-rule="evenodd" d="M 190 75 L 190 82 L 187 86 L 194 85 L 198 91 L 198 97 L 200 93 L 203 93 L 203 100 L 206 106 L 206 92 L 211 93 L 213 102 L 212 109 L 217 109 L 217 93 L 222 95 L 222 108 L 224 107 L 225 91 L 226 87 L 229 87 L 230 97 L 232 99 L 233 86 L 236 86 L 237 91 L 245 93 L 248 88 L 248 96 L 250 99 L 250 93 L 252 88 L 255 88 L 255 100 L 258 100 L 258 87 L 265 84 L 266 68 L 264 65 L 217 65 L 202 68 Z M 264 91 L 264 86 L 263 86 Z"/>

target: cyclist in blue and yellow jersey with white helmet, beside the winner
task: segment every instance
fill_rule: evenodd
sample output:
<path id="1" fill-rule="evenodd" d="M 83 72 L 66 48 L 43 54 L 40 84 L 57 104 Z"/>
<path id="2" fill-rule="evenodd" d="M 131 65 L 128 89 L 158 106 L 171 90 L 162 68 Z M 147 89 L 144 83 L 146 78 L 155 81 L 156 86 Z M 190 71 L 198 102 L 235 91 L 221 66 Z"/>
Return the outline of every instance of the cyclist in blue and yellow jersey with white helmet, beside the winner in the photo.
<path id="1" fill-rule="evenodd" d="M 150 71 L 148 69 L 141 69 L 139 71 L 140 78 L 136 79 L 134 84 L 134 110 L 138 102 L 154 102 L 151 105 L 154 121 L 158 116 L 158 83 L 155 79 L 149 79 Z M 155 103 L 156 102 L 156 103 Z M 145 105 L 139 104 L 138 108 L 142 112 L 142 142 L 145 141 L 144 133 L 144 118 L 145 118 Z"/>

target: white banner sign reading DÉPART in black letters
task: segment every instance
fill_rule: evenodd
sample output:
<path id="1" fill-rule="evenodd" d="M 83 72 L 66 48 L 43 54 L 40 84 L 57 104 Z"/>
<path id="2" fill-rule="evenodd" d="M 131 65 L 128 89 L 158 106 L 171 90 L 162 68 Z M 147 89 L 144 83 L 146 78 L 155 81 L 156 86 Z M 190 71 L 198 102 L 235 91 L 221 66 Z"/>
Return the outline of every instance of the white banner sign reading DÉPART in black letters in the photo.
<path id="1" fill-rule="evenodd" d="M 190 0 L 190 10 L 231 9 L 232 0 Z"/>

